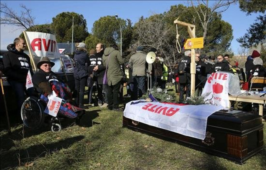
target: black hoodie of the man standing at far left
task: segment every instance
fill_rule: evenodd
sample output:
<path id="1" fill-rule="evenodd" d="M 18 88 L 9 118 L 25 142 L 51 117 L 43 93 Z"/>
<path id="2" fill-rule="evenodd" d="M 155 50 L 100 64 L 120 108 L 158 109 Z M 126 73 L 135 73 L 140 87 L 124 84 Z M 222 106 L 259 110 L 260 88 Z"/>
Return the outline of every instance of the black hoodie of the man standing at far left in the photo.
<path id="1" fill-rule="evenodd" d="M 31 75 L 33 75 L 30 57 L 23 51 L 17 51 L 14 44 L 9 44 L 7 50 L 8 52 L 3 57 L 4 74 L 7 76 L 7 80 L 26 84 L 28 71 L 30 70 Z"/>

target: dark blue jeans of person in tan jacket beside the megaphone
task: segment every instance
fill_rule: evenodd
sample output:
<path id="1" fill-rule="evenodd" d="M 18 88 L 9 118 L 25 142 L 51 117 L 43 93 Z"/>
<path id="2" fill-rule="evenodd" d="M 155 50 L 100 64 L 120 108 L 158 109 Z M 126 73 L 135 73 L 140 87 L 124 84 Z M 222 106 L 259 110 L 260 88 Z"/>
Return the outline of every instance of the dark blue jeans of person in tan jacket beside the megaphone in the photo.
<path id="1" fill-rule="evenodd" d="M 142 94 L 146 93 L 145 89 L 145 76 L 133 76 L 134 81 L 134 100 L 138 97 L 142 97 Z"/>

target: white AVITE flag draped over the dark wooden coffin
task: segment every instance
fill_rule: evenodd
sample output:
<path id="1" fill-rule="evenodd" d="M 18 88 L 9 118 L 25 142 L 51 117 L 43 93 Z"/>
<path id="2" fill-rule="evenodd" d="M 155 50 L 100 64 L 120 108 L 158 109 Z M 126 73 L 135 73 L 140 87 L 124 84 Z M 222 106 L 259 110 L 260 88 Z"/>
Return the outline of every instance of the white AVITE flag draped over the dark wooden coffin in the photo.
<path id="1" fill-rule="evenodd" d="M 137 101 L 140 100 L 134 102 Z M 223 107 L 207 104 L 180 106 L 160 102 L 138 104 L 129 102 L 126 104 L 124 116 L 147 125 L 203 140 L 208 116 L 220 109 Z"/>

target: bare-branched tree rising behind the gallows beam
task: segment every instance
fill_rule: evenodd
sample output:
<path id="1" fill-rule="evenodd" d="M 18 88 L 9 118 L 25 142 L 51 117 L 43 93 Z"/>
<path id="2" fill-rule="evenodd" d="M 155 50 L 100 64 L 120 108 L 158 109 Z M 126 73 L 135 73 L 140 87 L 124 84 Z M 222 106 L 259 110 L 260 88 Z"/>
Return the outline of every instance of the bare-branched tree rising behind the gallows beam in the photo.
<path id="1" fill-rule="evenodd" d="M 203 38 L 205 39 L 206 35 L 207 35 L 207 26 L 209 24 L 209 22 L 211 21 L 212 17 L 213 17 L 213 14 L 215 13 L 222 13 L 222 12 L 225 12 L 229 6 L 233 3 L 236 2 L 236 0 L 233 0 L 233 1 L 225 1 L 225 0 L 220 0 L 220 1 L 216 1 L 215 4 L 213 6 L 209 6 L 209 1 L 203 1 L 202 0 L 202 3 L 200 3 L 201 1 L 198 0 L 198 6 L 195 6 L 193 4 L 193 1 L 191 0 L 191 5 L 194 9 L 194 11 L 196 12 L 197 14 L 197 19 L 200 20 L 200 23 L 202 25 L 202 28 L 204 30 L 203 32 Z M 203 5 L 205 7 L 203 7 Z M 210 8 L 210 9 L 209 9 Z"/>

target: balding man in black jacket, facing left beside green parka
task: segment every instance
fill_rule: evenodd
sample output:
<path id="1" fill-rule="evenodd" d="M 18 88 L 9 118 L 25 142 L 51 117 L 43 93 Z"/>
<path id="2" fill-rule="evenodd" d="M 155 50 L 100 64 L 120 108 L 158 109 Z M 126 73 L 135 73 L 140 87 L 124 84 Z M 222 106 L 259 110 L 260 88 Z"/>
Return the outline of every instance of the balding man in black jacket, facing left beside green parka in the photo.
<path id="1" fill-rule="evenodd" d="M 95 55 L 95 57 L 97 58 L 97 63 L 93 71 L 94 75 L 97 76 L 98 99 L 100 99 L 103 102 L 103 105 L 101 107 L 107 107 L 108 85 L 103 84 L 103 76 L 106 70 L 106 67 L 102 63 L 103 52 L 104 52 L 104 45 L 102 43 L 98 43 L 96 45 L 96 55 Z M 104 101 L 103 101 L 103 91 L 104 91 Z"/>

